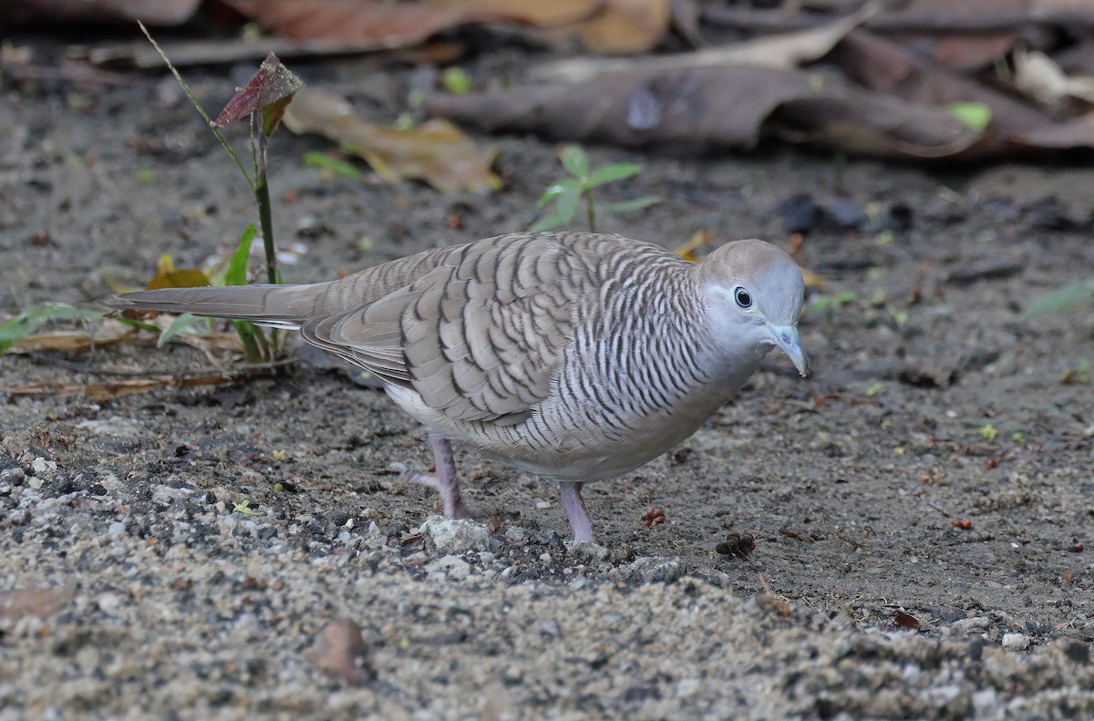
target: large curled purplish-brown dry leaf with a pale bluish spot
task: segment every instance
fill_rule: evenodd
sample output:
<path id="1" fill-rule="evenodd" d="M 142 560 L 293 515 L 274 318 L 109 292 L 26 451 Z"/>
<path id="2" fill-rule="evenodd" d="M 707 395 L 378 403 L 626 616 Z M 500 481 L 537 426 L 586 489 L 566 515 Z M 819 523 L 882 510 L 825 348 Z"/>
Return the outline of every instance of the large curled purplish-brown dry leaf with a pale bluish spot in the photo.
<path id="1" fill-rule="evenodd" d="M 693 152 L 749 149 L 775 133 L 856 152 L 941 158 L 981 137 L 944 108 L 835 77 L 750 66 L 606 73 L 581 84 L 440 96 L 430 109 L 487 130 Z"/>

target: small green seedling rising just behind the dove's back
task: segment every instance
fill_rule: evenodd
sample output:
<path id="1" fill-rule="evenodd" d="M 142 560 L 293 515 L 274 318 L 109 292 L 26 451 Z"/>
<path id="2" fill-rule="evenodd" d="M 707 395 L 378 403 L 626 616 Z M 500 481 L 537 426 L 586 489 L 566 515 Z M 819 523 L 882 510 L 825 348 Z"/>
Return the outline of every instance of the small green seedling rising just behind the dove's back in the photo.
<path id="1" fill-rule="evenodd" d="M 627 212 L 661 202 L 661 198 L 657 196 L 648 195 L 621 202 L 596 205 L 593 202 L 593 188 L 638 175 L 642 172 L 642 166 L 635 163 L 612 163 L 590 172 L 589 155 L 580 147 L 572 144 L 562 146 L 559 160 L 570 177 L 555 183 L 539 197 L 537 203 L 539 208 L 545 208 L 552 202 L 555 207 L 551 212 L 537 220 L 528 229 L 531 231 L 545 231 L 569 223 L 578 214 L 578 208 L 582 200 L 585 201 L 585 218 L 589 221 L 589 230 L 593 233 L 596 232 L 597 212 Z"/>

